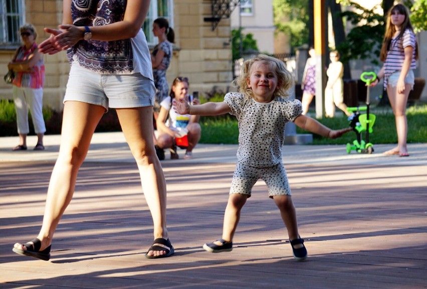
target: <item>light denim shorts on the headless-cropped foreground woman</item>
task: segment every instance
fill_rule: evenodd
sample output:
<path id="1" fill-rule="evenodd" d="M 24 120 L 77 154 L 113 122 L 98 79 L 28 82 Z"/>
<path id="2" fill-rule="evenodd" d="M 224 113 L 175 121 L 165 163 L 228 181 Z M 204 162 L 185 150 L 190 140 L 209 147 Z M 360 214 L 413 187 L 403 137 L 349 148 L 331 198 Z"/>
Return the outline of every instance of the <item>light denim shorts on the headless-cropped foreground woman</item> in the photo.
<path id="1" fill-rule="evenodd" d="M 152 106 L 154 82 L 140 73 L 131 75 L 99 74 L 74 62 L 68 78 L 66 101 L 80 101 L 108 108 Z"/>

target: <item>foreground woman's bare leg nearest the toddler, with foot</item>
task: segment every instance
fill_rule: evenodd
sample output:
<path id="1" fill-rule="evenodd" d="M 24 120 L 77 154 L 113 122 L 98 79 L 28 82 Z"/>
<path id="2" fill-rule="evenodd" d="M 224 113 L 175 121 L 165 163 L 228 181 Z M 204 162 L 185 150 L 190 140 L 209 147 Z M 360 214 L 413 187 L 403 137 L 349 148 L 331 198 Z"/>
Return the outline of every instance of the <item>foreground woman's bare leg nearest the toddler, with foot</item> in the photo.
<path id="1" fill-rule="evenodd" d="M 117 115 L 132 155 L 138 165 L 142 189 L 154 223 L 154 239 L 168 238 L 166 229 L 166 183 L 153 143 L 153 109 L 117 109 Z M 163 246 L 162 244 L 157 244 Z M 169 248 L 170 249 L 170 248 Z M 149 251 L 149 256 L 166 251 Z"/>

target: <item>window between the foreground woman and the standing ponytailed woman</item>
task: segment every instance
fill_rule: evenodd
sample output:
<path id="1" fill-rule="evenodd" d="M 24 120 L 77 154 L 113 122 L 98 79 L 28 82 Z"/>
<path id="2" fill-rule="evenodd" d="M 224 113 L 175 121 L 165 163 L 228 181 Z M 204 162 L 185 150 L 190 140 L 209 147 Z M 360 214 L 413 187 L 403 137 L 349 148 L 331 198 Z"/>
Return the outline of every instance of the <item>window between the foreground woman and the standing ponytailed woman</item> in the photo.
<path id="1" fill-rule="evenodd" d="M 149 45 L 157 44 L 158 39 L 153 36 L 152 28 L 154 20 L 159 17 L 167 19 L 167 21 L 169 21 L 169 26 L 173 28 L 172 0 L 151 1 L 147 18 L 142 26 Z"/>

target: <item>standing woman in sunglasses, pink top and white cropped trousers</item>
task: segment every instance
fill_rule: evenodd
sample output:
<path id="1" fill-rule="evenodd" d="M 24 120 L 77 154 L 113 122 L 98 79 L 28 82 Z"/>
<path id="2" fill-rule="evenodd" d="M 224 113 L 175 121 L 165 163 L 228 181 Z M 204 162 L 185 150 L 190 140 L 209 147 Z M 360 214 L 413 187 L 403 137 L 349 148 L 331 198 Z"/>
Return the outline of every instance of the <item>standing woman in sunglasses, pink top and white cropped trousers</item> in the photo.
<path id="1" fill-rule="evenodd" d="M 29 109 L 37 134 L 34 150 L 44 150 L 43 136 L 46 126 L 43 119 L 43 84 L 45 82 L 43 54 L 37 47 L 37 32 L 32 24 L 25 24 L 19 31 L 23 45 L 17 49 L 12 61 L 8 64 L 9 70 L 15 72 L 12 84 L 19 134 L 19 145 L 13 150 L 27 150 L 27 135 L 30 132 Z"/>

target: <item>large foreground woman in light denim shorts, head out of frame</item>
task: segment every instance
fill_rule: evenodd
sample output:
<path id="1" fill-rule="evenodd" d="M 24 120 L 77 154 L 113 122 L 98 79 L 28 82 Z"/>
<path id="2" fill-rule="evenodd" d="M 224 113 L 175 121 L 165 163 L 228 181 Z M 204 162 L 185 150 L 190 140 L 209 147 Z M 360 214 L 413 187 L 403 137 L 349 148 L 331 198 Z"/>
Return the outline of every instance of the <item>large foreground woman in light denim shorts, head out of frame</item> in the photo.
<path id="1" fill-rule="evenodd" d="M 40 52 L 46 54 L 67 49 L 71 70 L 59 156 L 49 183 L 43 225 L 36 239 L 16 243 L 13 251 L 49 260 L 53 235 L 73 197 L 95 128 L 112 107 L 136 160 L 154 222 L 154 242 L 145 256 L 167 257 L 174 249 L 166 228 L 166 184 L 152 137 L 155 87 L 150 52 L 141 30 L 150 2 L 85 3 L 64 0 L 62 25 L 58 30 L 45 28 L 51 36 L 39 45 Z M 81 25 L 79 20 L 87 21 L 83 26 L 74 25 Z"/>

